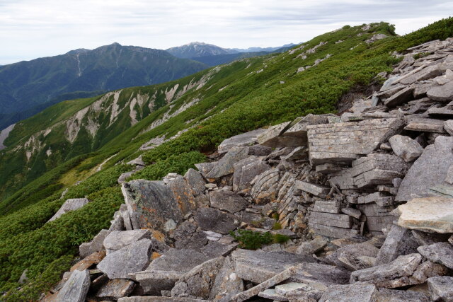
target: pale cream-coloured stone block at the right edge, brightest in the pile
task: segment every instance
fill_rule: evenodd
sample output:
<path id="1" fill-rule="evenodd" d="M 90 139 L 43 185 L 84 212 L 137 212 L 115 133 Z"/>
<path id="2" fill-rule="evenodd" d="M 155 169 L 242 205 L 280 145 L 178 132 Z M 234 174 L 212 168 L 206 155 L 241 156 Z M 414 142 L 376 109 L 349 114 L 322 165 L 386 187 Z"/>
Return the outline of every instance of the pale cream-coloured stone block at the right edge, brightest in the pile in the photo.
<path id="1" fill-rule="evenodd" d="M 453 233 L 453 199 L 415 198 L 398 207 L 398 226 L 419 231 Z"/>

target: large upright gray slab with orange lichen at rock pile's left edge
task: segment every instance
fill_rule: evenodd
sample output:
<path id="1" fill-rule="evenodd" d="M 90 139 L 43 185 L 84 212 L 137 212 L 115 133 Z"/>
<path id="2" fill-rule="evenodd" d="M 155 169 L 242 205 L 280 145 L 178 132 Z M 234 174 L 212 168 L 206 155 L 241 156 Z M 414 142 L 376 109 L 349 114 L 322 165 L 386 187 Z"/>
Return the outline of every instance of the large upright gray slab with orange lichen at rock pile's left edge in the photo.
<path id="1" fill-rule="evenodd" d="M 166 223 L 183 221 L 195 209 L 195 199 L 182 177 L 168 185 L 161 181 L 132 180 L 122 185 L 134 229 L 151 228 L 167 233 Z"/>

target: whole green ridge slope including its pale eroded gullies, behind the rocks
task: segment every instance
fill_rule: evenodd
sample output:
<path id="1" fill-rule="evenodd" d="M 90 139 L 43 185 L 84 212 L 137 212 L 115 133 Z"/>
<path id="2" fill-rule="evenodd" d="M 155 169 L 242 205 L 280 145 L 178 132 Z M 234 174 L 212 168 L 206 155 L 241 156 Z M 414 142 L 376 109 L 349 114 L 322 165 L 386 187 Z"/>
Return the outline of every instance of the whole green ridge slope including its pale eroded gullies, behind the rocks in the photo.
<path id="1" fill-rule="evenodd" d="M 389 37 L 366 44 L 375 33 Z M 366 31 L 345 26 L 282 54 L 61 103 L 18 124 L 0 158 L 5 301 L 36 298 L 67 269 L 78 245 L 108 226 L 122 202 L 116 180 L 132 169 L 124 164 L 130 159 L 142 154 L 148 164 L 133 178 L 159 179 L 204 161 L 205 153 L 232 135 L 309 113 L 335 112 L 342 95 L 393 69 L 398 59 L 392 52 L 453 36 L 453 18 L 404 37 L 392 33 L 386 23 Z M 318 59 L 323 61 L 315 65 Z M 306 66 L 311 67 L 297 72 Z M 85 103 L 79 107 L 80 102 Z M 159 138 L 166 142 L 157 146 Z M 23 185 L 16 187 L 13 180 Z M 69 187 L 64 199 L 87 196 L 89 207 L 44 224 L 64 202 L 59 198 L 64 187 Z M 24 269 L 31 281 L 17 291 Z"/>

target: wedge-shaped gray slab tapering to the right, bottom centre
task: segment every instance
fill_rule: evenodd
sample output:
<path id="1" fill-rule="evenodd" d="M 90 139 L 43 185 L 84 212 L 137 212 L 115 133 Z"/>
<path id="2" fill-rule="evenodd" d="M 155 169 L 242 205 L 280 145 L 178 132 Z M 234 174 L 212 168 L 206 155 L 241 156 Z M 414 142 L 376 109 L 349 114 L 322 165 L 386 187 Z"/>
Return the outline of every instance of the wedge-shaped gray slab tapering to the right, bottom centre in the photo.
<path id="1" fill-rule="evenodd" d="M 316 262 L 308 255 L 294 255 L 289 252 L 263 252 L 257 250 L 235 250 L 236 274 L 239 278 L 261 283 L 283 270 L 303 262 Z"/>

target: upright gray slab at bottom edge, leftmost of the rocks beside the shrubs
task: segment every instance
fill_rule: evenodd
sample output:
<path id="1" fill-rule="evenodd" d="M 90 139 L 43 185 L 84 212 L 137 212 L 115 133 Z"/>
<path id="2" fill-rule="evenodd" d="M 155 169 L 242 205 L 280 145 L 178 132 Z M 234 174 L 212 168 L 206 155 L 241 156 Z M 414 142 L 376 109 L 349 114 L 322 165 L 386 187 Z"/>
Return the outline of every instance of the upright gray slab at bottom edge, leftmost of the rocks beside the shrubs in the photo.
<path id="1" fill-rule="evenodd" d="M 84 302 L 90 287 L 90 273 L 88 270 L 75 270 L 68 281 L 58 292 L 55 302 Z"/>

